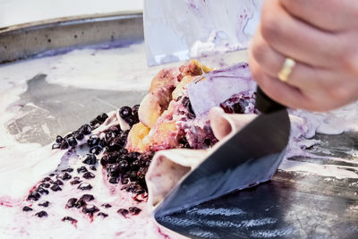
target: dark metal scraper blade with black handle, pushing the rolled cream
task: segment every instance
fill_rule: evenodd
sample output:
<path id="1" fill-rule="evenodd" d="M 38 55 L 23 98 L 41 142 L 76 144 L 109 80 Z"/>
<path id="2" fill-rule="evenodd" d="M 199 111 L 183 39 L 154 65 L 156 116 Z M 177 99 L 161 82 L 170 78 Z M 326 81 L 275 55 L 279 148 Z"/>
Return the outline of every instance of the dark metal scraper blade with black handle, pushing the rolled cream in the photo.
<path id="1" fill-rule="evenodd" d="M 268 98 L 259 87 L 255 107 L 261 114 L 214 150 L 166 196 L 155 210 L 157 220 L 272 178 L 285 155 L 290 121 L 286 107 Z"/>

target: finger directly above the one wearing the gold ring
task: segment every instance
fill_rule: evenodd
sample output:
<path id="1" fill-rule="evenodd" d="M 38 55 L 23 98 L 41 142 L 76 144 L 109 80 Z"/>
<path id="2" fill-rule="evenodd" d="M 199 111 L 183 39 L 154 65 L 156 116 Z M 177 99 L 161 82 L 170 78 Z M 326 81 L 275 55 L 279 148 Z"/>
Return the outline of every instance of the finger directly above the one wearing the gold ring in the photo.
<path id="1" fill-rule="evenodd" d="M 337 38 L 289 15 L 278 0 L 264 1 L 260 32 L 270 47 L 304 64 L 325 67 L 337 61 Z"/>

